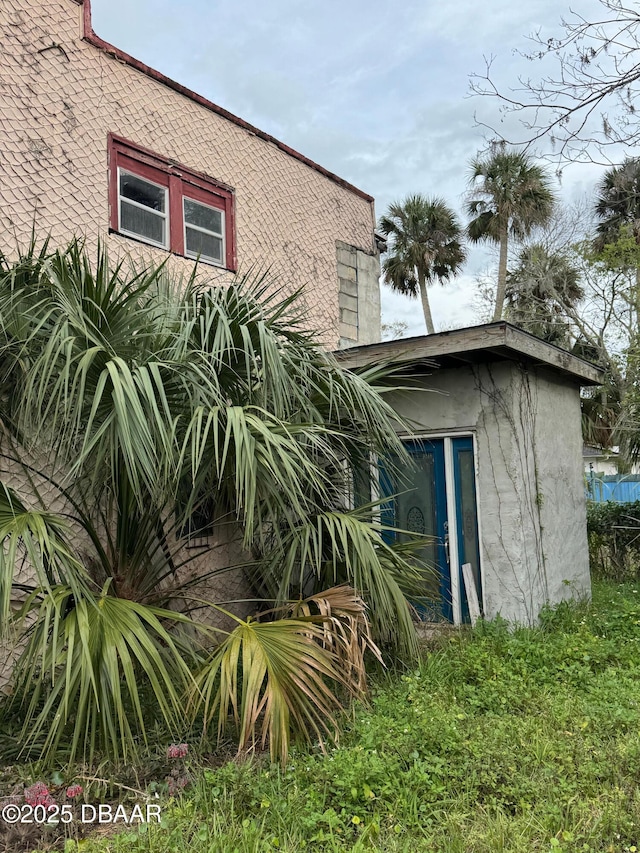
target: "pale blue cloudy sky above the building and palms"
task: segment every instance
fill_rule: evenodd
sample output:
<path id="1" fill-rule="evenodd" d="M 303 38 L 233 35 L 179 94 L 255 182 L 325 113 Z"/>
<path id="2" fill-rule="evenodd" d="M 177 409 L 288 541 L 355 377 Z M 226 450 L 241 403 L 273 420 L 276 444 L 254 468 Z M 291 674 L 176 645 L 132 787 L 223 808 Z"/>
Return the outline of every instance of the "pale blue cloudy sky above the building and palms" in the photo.
<path id="1" fill-rule="evenodd" d="M 588 17 L 597 0 L 580 0 Z M 443 196 L 462 213 L 468 162 L 485 142 L 469 75 L 493 57 L 501 87 L 539 67 L 516 52 L 558 34 L 569 0 L 93 0 L 93 27 L 169 77 L 271 133 L 373 195 L 380 215 L 407 193 Z M 559 192 L 592 190 L 601 170 L 572 166 Z M 478 322 L 475 249 L 463 275 L 430 289 L 436 328 Z M 418 303 L 383 288 L 383 320 L 424 333 Z"/>

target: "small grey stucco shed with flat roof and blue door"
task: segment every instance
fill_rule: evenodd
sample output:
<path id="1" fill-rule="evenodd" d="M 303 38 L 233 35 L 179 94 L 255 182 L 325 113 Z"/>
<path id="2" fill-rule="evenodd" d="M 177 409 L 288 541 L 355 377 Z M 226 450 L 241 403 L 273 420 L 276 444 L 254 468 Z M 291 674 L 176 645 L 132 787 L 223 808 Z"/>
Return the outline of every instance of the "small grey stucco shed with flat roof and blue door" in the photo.
<path id="1" fill-rule="evenodd" d="M 423 618 L 469 621 L 475 593 L 486 618 L 532 625 L 589 596 L 580 387 L 602 383 L 598 367 L 506 322 L 336 355 L 404 365 L 424 389 L 390 393 L 415 464 L 380 477 L 395 525 L 430 537 Z"/>

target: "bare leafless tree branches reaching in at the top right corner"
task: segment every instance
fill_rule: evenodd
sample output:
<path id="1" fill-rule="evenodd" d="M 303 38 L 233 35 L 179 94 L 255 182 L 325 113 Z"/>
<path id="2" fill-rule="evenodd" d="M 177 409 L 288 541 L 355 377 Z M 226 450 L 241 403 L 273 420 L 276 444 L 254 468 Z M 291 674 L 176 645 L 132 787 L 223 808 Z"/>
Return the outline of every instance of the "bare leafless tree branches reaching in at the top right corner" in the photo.
<path id="1" fill-rule="evenodd" d="M 524 133 L 505 141 L 531 148 L 543 139 L 559 167 L 566 162 L 612 162 L 616 146 L 640 142 L 637 97 L 640 93 L 640 7 L 623 0 L 600 0 L 603 14 L 589 21 L 570 11 L 563 33 L 545 39 L 529 36 L 532 49 L 516 51 L 531 62 L 553 62 L 551 73 L 520 77 L 502 91 L 492 76 L 495 57 L 485 71 L 471 75 L 471 94 L 497 98 L 502 117 L 513 114 Z M 478 126 L 503 138 L 496 124 L 476 118 Z"/>

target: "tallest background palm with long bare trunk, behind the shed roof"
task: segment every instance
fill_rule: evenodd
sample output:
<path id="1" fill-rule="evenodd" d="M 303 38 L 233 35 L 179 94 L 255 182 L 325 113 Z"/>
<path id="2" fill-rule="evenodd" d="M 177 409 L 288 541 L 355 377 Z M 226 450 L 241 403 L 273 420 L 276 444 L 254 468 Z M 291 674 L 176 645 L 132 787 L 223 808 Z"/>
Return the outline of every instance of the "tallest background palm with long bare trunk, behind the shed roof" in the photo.
<path id="1" fill-rule="evenodd" d="M 498 289 L 494 320 L 502 318 L 506 285 L 509 237 L 528 236 L 544 225 L 555 203 L 550 180 L 544 169 L 526 154 L 498 149 L 487 157 L 471 161 L 471 199 L 467 226 L 474 243 L 489 240 L 500 246 Z"/>

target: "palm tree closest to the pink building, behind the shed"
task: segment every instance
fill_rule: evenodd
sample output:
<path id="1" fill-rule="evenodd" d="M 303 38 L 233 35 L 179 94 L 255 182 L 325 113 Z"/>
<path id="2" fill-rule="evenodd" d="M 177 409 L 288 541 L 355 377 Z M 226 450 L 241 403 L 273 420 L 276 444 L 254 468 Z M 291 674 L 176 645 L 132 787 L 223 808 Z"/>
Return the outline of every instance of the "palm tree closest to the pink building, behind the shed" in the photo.
<path id="1" fill-rule="evenodd" d="M 398 293 L 420 295 L 427 334 L 432 335 L 427 284 L 447 281 L 466 257 L 458 218 L 444 199 L 416 194 L 391 204 L 379 228 L 390 238 L 382 265 L 384 281 Z"/>

